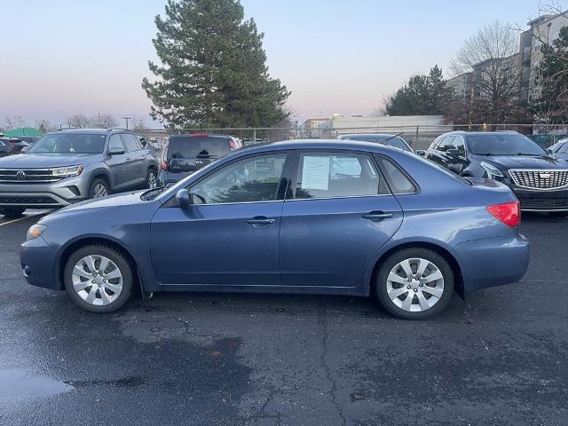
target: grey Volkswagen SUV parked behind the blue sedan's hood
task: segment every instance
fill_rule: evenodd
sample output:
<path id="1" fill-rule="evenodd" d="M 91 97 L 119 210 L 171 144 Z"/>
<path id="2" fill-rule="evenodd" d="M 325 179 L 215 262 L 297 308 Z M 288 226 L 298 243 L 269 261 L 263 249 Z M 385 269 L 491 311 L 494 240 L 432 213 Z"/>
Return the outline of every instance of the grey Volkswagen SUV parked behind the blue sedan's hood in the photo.
<path id="1" fill-rule="evenodd" d="M 128 130 L 58 130 L 27 154 L 0 159 L 0 215 L 53 209 L 132 188 L 155 187 L 157 161 Z"/>

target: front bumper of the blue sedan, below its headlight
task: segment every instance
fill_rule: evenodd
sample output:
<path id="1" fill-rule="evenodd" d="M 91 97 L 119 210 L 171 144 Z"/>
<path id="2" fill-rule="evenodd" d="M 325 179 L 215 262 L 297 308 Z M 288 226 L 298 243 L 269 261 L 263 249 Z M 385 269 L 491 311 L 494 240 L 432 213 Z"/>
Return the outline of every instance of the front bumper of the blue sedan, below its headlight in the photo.
<path id="1" fill-rule="evenodd" d="M 52 290 L 63 289 L 57 278 L 56 253 L 42 236 L 21 245 L 20 264 L 28 284 Z"/>

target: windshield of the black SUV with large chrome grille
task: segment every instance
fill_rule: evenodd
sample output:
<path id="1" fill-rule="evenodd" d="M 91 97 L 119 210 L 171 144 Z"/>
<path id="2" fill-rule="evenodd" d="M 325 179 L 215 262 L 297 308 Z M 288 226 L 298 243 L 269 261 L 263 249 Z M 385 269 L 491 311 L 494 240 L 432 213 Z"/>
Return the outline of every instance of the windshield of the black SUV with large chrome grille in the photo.
<path id="1" fill-rule="evenodd" d="M 468 148 L 477 155 L 546 155 L 531 139 L 515 134 L 469 135 Z"/>

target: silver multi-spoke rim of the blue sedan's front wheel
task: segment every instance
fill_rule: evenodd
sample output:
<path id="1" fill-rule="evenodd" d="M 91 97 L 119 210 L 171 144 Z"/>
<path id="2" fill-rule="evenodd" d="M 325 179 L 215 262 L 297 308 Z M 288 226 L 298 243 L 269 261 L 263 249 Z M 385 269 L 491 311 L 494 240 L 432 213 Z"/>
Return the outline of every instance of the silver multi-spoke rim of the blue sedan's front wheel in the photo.
<path id="1" fill-rule="evenodd" d="M 86 303 L 112 304 L 122 292 L 122 272 L 108 257 L 84 256 L 73 268 L 75 293 Z"/>

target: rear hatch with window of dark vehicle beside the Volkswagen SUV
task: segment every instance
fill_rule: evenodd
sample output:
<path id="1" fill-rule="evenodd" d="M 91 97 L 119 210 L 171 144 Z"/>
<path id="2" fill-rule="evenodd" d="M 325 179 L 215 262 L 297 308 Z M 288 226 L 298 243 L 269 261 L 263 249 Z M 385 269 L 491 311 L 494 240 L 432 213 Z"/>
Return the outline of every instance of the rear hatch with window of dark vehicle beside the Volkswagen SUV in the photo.
<path id="1" fill-rule="evenodd" d="M 193 173 L 231 153 L 230 139 L 223 136 L 170 136 L 166 162 L 173 173 Z"/>

